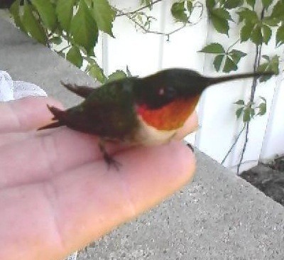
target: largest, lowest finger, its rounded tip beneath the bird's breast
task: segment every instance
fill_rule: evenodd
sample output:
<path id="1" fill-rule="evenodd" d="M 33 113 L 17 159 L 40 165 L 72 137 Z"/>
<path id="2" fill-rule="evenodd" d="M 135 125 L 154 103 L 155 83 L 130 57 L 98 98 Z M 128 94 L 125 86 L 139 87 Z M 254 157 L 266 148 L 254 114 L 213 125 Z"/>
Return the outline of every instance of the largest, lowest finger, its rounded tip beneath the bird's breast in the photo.
<path id="1" fill-rule="evenodd" d="M 0 192 L 0 230 L 7 230 L 0 232 L 1 256 L 62 259 L 153 207 L 187 183 L 195 169 L 182 143 L 136 148 L 117 159 L 123 163 L 119 172 L 98 161 L 58 175 L 49 185 Z M 21 221 L 16 210 L 23 212 Z"/>

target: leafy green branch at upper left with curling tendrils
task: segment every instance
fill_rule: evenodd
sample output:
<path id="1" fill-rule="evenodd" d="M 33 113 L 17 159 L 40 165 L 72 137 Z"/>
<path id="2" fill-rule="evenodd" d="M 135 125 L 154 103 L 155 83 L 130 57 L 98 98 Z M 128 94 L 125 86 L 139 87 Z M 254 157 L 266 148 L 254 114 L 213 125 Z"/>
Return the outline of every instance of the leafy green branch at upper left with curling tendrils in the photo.
<path id="1" fill-rule="evenodd" d="M 169 39 L 170 35 L 191 23 L 193 10 L 203 11 L 203 5 L 198 1 L 175 1 L 170 12 L 175 21 L 182 22 L 182 26 L 168 33 L 153 31 L 151 23 L 155 17 L 145 10 L 151 11 L 161 1 L 142 0 L 138 9 L 126 12 L 111 6 L 108 0 L 15 0 L 10 12 L 22 31 L 53 48 L 94 79 L 106 82 L 109 78 L 126 77 L 128 74 L 127 70 L 116 70 L 107 77 L 94 53 L 100 33 L 114 37 L 112 27 L 116 17 L 126 16 L 143 33 L 155 33 Z"/>

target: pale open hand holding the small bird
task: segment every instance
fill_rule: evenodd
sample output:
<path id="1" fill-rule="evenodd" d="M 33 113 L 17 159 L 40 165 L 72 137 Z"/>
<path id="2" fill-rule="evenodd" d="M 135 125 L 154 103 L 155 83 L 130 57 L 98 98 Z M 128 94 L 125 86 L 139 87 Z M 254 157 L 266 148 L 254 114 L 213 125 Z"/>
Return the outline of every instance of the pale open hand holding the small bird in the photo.
<path id="1" fill-rule="evenodd" d="M 195 171 L 179 140 L 197 128 L 193 114 L 162 146 L 111 144 L 121 168 L 107 167 L 96 136 L 50 121 L 53 99 L 0 103 L 0 259 L 55 260 L 102 237 L 175 193 Z"/>

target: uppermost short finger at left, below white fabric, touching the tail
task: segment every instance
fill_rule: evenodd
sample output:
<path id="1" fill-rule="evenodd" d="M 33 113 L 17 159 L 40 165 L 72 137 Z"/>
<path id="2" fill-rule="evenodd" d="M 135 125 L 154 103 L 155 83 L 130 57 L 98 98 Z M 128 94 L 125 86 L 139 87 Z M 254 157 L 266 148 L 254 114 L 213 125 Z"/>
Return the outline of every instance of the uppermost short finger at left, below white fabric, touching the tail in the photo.
<path id="1" fill-rule="evenodd" d="M 49 97 L 26 97 L 11 102 L 1 102 L 0 133 L 37 129 L 51 120 L 47 104 L 62 105 Z"/>

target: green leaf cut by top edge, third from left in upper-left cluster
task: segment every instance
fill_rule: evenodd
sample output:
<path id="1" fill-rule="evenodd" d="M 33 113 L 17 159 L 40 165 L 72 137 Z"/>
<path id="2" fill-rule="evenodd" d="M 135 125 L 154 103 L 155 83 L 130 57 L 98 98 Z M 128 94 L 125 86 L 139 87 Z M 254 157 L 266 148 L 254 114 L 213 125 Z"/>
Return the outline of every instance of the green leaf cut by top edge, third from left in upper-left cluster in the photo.
<path id="1" fill-rule="evenodd" d="M 43 25 L 51 31 L 57 26 L 57 18 L 55 7 L 48 0 L 31 0 L 33 6 L 38 11 L 40 18 L 43 20 Z"/>

